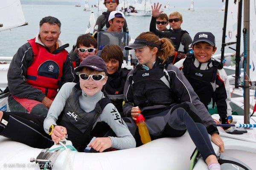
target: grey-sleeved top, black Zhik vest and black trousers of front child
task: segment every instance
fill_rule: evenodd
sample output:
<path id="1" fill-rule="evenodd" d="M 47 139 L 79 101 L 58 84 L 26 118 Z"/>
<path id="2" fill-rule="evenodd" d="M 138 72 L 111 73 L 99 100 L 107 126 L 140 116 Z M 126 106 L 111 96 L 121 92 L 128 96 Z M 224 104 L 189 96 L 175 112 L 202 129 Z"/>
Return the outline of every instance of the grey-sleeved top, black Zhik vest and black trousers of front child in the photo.
<path id="1" fill-rule="evenodd" d="M 76 149 L 82 151 L 90 142 L 90 137 L 97 134 L 97 131 L 92 134 L 90 132 L 93 132 L 98 124 L 106 124 L 117 136 L 109 136 L 111 147 L 116 149 L 135 147 L 135 140 L 120 114 L 111 102 L 104 100 L 102 92 L 87 96 L 81 91 L 79 84 L 66 83 L 52 102 L 44 123 L 42 119 L 31 114 L 4 112 L 0 135 L 31 147 L 46 148 L 53 144 L 47 134 L 50 125 L 62 125 L 67 128 L 67 139 L 73 142 Z"/>

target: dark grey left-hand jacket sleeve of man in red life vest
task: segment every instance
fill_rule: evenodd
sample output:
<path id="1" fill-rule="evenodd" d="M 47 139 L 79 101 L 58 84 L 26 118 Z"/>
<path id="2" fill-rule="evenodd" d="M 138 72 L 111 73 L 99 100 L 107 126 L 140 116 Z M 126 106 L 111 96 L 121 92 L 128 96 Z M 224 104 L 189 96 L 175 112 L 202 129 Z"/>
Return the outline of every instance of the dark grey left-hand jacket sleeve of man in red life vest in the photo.
<path id="1" fill-rule="evenodd" d="M 34 54 L 29 43 L 22 45 L 13 56 L 9 66 L 7 79 L 10 93 L 19 98 L 27 98 L 41 102 L 45 95 L 26 82 L 27 68 L 32 64 Z"/>

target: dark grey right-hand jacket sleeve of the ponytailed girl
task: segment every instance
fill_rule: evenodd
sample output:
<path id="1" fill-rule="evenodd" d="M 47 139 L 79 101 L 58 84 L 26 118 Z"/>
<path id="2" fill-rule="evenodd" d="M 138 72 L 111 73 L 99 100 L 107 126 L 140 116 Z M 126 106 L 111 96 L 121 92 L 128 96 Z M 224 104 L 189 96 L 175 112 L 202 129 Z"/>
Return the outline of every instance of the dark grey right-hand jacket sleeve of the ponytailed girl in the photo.
<path id="1" fill-rule="evenodd" d="M 207 132 L 212 135 L 213 133 L 218 133 L 215 122 L 208 113 L 204 104 L 200 102 L 197 94 L 193 90 L 192 86 L 189 84 L 186 77 L 180 72 L 180 70 L 173 66 L 169 65 L 167 68 L 169 74 L 172 91 L 177 95 L 181 102 L 191 102 L 195 108 L 198 110 L 198 116 L 203 120 Z"/>

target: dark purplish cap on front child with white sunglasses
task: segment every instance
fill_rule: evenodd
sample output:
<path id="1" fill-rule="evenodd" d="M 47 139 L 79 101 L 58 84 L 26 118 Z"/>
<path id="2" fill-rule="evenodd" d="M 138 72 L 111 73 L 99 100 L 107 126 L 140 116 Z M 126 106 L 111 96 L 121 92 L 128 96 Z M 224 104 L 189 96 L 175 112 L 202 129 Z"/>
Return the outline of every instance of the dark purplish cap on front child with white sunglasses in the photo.
<path id="1" fill-rule="evenodd" d="M 86 57 L 75 69 L 76 74 L 78 74 L 78 72 L 84 67 L 88 67 L 96 71 L 104 71 L 106 75 L 108 74 L 105 61 L 101 57 L 96 55 Z"/>

